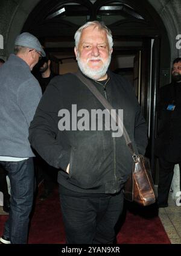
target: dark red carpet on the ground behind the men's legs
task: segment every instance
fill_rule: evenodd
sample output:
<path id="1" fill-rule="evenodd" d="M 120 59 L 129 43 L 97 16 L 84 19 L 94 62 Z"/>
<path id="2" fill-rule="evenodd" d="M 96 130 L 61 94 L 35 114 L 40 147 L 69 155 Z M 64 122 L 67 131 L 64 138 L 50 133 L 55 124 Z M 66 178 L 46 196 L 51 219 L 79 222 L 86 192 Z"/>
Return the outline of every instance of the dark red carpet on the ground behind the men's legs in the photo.
<path id="1" fill-rule="evenodd" d="M 136 211 L 126 211 L 125 220 L 122 220 L 123 225 L 119 228 L 117 235 L 118 244 L 170 244 L 170 240 L 165 233 L 159 217 L 148 216 L 151 215 L 150 209 L 140 210 L 137 208 Z M 7 217 L 0 216 L 0 235 L 2 234 L 4 222 Z M 36 200 L 34 214 L 31 219 L 28 243 L 65 243 L 65 232 L 57 190 L 54 191 L 53 196 L 44 202 Z"/>

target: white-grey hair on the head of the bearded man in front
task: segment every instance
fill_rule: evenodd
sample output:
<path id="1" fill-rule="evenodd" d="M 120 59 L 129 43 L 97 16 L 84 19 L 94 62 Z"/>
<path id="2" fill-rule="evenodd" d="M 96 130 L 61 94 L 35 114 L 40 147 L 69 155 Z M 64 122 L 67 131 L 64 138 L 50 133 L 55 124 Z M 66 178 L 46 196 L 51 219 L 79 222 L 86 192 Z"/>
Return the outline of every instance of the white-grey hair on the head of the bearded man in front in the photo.
<path id="1" fill-rule="evenodd" d="M 83 29 L 87 28 L 89 26 L 92 26 L 92 25 L 94 25 L 95 27 L 98 27 L 100 30 L 106 31 L 107 40 L 109 42 L 109 48 L 112 49 L 112 46 L 113 46 L 112 33 L 111 33 L 110 29 L 106 27 L 104 22 L 99 22 L 99 21 L 88 21 L 84 25 L 82 25 L 80 28 L 78 28 L 78 30 L 75 32 L 75 36 L 74 36 L 75 47 L 78 48 L 78 43 L 79 43 L 80 36 L 81 36 Z"/>

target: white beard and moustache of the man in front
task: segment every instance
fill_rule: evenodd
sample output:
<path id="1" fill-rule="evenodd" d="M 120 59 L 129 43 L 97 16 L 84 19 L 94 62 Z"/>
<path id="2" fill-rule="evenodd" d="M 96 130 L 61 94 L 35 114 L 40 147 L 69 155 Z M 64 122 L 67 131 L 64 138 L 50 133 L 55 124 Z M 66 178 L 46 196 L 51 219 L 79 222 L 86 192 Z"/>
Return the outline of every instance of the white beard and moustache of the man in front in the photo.
<path id="1" fill-rule="evenodd" d="M 101 60 L 103 62 L 103 59 L 101 57 L 89 58 L 89 59 L 87 59 L 87 63 L 89 62 L 89 60 Z M 103 66 L 101 66 L 101 68 L 95 70 L 95 69 L 89 68 L 87 63 L 84 64 L 80 59 L 80 54 L 77 53 L 78 67 L 80 68 L 81 72 L 84 75 L 92 78 L 93 80 L 99 80 L 101 77 L 106 75 L 107 69 L 109 68 L 110 60 L 111 60 L 111 54 L 109 54 L 109 57 L 107 58 L 106 62 L 103 62 Z"/>

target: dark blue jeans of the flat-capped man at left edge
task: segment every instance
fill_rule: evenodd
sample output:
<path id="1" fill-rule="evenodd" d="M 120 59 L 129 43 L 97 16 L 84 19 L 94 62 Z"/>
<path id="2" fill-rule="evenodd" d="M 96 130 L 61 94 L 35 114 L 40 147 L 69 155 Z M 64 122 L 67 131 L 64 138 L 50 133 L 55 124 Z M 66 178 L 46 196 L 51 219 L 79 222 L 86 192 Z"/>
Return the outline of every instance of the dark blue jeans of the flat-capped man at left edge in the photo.
<path id="1" fill-rule="evenodd" d="M 27 243 L 34 194 L 33 158 L 19 162 L 1 161 L 1 165 L 8 171 L 11 184 L 10 214 L 4 236 L 9 237 L 12 244 Z"/>

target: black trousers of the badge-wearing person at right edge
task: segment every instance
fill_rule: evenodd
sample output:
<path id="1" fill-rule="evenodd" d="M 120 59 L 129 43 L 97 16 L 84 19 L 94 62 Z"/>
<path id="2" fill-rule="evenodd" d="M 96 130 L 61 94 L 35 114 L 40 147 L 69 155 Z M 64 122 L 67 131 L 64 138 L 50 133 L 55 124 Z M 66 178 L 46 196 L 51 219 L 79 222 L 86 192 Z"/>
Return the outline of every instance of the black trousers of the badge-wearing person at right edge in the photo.
<path id="1" fill-rule="evenodd" d="M 175 164 L 179 164 L 181 188 L 181 162 L 169 162 L 167 159 L 159 157 L 159 184 L 157 200 L 160 205 L 165 205 L 168 203 L 168 194 L 170 192 Z"/>

